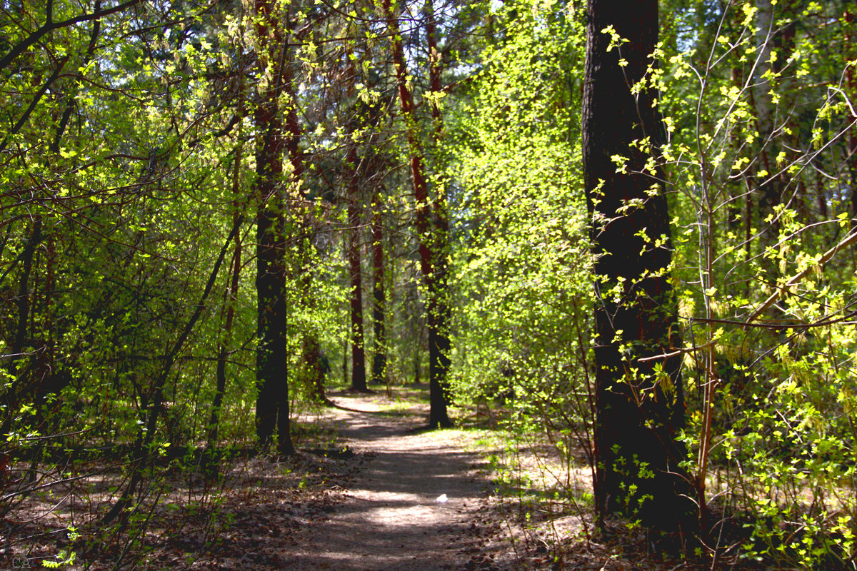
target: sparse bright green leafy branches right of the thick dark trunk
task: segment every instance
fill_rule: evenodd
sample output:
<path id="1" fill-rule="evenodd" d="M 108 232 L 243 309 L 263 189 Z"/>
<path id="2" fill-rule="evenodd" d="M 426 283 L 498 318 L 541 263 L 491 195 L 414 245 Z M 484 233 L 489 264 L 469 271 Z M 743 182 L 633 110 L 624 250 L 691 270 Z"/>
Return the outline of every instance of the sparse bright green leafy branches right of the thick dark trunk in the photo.
<path id="1" fill-rule="evenodd" d="M 756 516 L 752 556 L 848 561 L 857 292 L 853 257 L 821 262 L 854 227 L 843 153 L 854 117 L 848 93 L 826 87 L 842 85 L 847 24 L 836 3 L 781 1 L 766 34 L 759 3 L 701 4 L 670 4 L 659 101 L 688 444 L 711 446 L 711 495 Z"/>

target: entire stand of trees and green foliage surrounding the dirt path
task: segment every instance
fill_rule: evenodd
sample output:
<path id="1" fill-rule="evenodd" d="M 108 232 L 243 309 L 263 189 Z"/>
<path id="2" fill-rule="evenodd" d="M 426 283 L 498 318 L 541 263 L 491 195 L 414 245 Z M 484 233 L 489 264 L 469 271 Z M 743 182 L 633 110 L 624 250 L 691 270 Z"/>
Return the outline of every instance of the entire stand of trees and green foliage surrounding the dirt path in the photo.
<path id="1" fill-rule="evenodd" d="M 502 396 L 584 450 L 602 525 L 854 568 L 857 5 L 640 5 L 3 1 L 3 520 L 107 461 L 85 519 L 133 535 L 158 458 L 289 455 L 330 379 L 428 380 L 431 426 Z M 610 172 L 649 182 L 605 214 L 609 66 Z"/>

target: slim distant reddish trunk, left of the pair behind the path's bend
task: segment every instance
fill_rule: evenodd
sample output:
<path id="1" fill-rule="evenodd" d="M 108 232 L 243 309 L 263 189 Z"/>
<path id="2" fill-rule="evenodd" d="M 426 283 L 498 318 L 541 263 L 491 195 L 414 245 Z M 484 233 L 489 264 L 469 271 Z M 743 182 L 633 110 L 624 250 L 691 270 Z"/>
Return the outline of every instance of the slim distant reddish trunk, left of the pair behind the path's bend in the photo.
<path id="1" fill-rule="evenodd" d="M 351 276 L 351 390 L 365 392 L 366 350 L 363 347 L 363 271 L 360 257 L 360 184 L 357 144 L 351 143 L 348 163 L 351 180 L 348 186 L 348 265 Z"/>

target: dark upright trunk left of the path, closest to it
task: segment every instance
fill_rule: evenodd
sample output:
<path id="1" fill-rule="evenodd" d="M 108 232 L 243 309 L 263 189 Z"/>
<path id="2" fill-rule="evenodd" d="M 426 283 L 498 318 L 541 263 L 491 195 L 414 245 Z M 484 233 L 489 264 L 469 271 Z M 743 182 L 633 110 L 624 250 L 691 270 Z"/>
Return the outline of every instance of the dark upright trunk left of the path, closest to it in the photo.
<path id="1" fill-rule="evenodd" d="M 262 44 L 261 75 L 270 71 L 270 83 L 260 94 L 255 125 L 256 142 L 256 437 L 261 449 L 273 444 L 281 454 L 294 453 L 289 419 L 287 306 L 285 287 L 284 204 L 282 157 L 287 140 L 280 119 L 279 101 L 286 92 L 286 38 L 280 30 L 275 3 L 257 0 L 256 32 Z"/>

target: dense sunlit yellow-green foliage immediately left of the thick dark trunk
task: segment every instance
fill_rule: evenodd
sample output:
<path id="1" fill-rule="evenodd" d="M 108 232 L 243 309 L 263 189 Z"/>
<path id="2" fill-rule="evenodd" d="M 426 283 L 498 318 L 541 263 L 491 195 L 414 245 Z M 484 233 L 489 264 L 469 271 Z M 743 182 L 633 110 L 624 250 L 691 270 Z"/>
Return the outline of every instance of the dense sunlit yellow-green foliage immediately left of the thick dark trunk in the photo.
<path id="1" fill-rule="evenodd" d="M 483 48 L 469 97 L 451 107 L 463 302 L 453 378 L 476 401 L 514 394 L 518 419 L 538 422 L 549 411 L 574 416 L 569 394 L 586 390 L 578 341 L 590 261 L 574 111 L 584 36 L 556 7 L 508 4 L 496 15 L 502 39 Z"/>

